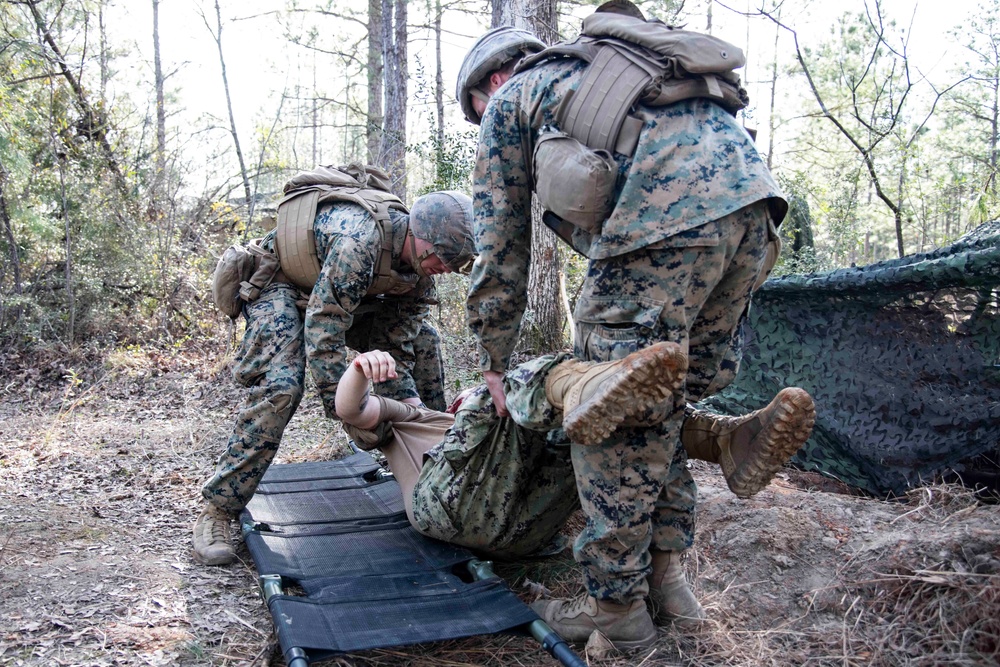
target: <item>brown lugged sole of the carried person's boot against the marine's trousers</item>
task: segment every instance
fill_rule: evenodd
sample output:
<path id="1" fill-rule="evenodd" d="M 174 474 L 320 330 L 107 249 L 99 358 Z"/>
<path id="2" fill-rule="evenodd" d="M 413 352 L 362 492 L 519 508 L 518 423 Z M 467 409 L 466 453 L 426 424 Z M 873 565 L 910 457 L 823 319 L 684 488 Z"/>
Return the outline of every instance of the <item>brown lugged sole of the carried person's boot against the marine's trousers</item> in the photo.
<path id="1" fill-rule="evenodd" d="M 626 419 L 678 391 L 686 373 L 687 357 L 676 343 L 657 343 L 634 352 L 610 386 L 563 418 L 563 428 L 576 444 L 599 444 Z"/>

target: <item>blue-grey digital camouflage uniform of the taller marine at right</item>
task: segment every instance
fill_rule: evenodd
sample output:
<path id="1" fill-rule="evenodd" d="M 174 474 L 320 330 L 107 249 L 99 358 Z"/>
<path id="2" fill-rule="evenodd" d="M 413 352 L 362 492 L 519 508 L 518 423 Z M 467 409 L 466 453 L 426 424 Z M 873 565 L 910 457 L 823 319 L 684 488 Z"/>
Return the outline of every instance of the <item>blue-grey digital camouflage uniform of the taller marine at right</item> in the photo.
<path id="1" fill-rule="evenodd" d="M 539 128 L 558 128 L 557 104 L 583 68 L 561 60 L 515 75 L 482 119 L 473 183 L 480 256 L 468 308 L 484 370 L 506 367 L 524 312 Z M 647 593 L 650 548 L 680 551 L 693 542 L 696 489 L 678 447 L 683 406 L 727 382 L 723 359 L 772 229 L 767 200 L 781 197 L 749 136 L 721 107 L 692 99 L 638 115 L 635 155 L 615 156 L 614 212 L 600 234 L 573 238 L 590 259 L 575 353 L 607 361 L 667 340 L 688 351 L 690 370 L 659 426 L 571 447 L 587 515 L 575 555 L 589 593 L 618 602 Z"/>

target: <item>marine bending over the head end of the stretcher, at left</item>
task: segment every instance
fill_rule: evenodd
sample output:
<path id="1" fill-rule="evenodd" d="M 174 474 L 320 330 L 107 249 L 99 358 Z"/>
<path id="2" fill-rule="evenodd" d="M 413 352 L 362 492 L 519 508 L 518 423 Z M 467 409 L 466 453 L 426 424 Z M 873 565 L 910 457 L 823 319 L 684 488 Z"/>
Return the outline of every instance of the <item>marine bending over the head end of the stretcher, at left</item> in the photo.
<path id="1" fill-rule="evenodd" d="M 247 326 L 233 377 L 249 393 L 202 488 L 194 526 L 202 563 L 235 558 L 230 521 L 277 453 L 307 366 L 331 419 L 347 348 L 392 355 L 399 372 L 378 386 L 383 395 L 445 407 L 440 339 L 427 317 L 437 303 L 433 276 L 468 273 L 475 259 L 472 200 L 432 192 L 407 212 L 387 183 L 381 171 L 352 164 L 304 172 L 285 186 L 278 226 L 261 244 L 277 251 L 280 269 L 269 284 L 250 285 L 242 307 Z"/>

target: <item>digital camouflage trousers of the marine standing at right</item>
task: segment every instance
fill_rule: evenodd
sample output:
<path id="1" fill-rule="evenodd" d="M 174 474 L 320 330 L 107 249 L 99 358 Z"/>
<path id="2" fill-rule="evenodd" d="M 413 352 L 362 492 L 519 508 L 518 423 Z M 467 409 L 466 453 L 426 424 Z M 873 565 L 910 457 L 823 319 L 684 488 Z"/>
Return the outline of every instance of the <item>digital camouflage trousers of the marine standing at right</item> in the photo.
<path id="1" fill-rule="evenodd" d="M 649 549 L 694 541 L 697 489 L 679 447 L 685 402 L 720 377 L 768 238 L 765 202 L 621 257 L 591 261 L 576 307 L 576 354 L 621 359 L 658 341 L 687 351 L 686 387 L 651 428 L 571 447 L 587 524 L 574 545 L 589 593 L 621 602 L 648 592 Z M 723 370 L 723 375 L 729 371 Z"/>

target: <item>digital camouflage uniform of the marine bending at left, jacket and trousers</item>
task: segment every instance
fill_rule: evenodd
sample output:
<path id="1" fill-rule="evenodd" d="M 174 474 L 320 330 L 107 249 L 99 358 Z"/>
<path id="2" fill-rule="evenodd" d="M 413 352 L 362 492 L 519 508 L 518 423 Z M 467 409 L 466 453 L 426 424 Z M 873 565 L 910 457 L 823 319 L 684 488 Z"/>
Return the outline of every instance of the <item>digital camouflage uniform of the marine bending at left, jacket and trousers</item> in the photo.
<path id="1" fill-rule="evenodd" d="M 400 273 L 407 272 L 399 262 L 406 226 L 406 215 L 394 213 L 392 268 Z M 308 303 L 295 286 L 277 282 L 243 309 L 247 329 L 233 377 L 250 393 L 215 474 L 202 488 L 209 502 L 231 512 L 249 502 L 274 459 L 302 400 L 307 363 L 331 418 L 347 347 L 386 350 L 396 359 L 399 377 L 379 384 L 380 394 L 420 396 L 434 409 L 445 407 L 440 338 L 426 321 L 436 303 L 433 280 L 422 278 L 402 296 L 368 296 L 379 234 L 374 219 L 356 204 L 321 206 L 314 231 L 317 255 L 325 259 Z"/>

